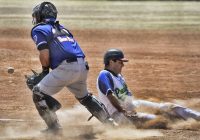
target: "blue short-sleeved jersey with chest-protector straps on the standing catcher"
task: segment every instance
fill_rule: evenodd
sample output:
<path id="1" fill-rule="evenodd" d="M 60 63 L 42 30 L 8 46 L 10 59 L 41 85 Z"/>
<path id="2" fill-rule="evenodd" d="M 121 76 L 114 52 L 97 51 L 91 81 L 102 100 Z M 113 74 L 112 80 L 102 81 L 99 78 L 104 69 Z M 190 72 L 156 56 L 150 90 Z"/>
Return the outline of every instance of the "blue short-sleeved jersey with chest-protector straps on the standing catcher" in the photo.
<path id="1" fill-rule="evenodd" d="M 31 37 L 37 47 L 48 45 L 51 69 L 56 68 L 64 60 L 85 57 L 73 35 L 61 25 L 58 28 L 53 24 L 38 24 L 33 27 Z"/>

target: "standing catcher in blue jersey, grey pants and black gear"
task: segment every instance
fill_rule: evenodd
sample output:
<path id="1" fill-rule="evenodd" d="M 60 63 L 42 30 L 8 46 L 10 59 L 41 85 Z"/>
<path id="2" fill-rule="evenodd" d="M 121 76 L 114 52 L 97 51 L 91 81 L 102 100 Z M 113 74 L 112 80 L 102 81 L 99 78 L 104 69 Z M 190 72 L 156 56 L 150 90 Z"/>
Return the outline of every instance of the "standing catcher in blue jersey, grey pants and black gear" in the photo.
<path id="1" fill-rule="evenodd" d="M 27 76 L 27 85 L 33 91 L 33 102 L 47 124 L 46 131 L 61 128 L 56 111 L 60 103 L 51 97 L 67 87 L 76 99 L 102 123 L 115 125 L 102 103 L 87 90 L 89 66 L 85 54 L 72 33 L 56 21 L 57 9 L 50 2 L 42 2 L 33 9 L 31 37 L 39 51 L 43 71 Z M 49 69 L 52 69 L 49 71 Z"/>

